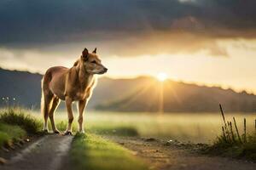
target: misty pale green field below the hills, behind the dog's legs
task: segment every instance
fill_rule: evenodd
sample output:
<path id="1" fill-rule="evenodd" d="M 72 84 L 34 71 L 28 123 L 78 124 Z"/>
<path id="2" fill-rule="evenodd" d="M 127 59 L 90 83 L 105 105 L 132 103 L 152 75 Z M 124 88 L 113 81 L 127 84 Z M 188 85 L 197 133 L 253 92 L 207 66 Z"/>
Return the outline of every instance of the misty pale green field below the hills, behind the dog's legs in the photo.
<path id="1" fill-rule="evenodd" d="M 62 130 L 66 128 L 67 113 L 57 111 L 56 119 Z M 75 114 L 77 116 L 77 114 Z M 230 113 L 227 119 L 236 116 L 238 127 L 247 118 L 247 131 L 254 131 L 256 115 Z M 118 113 L 86 112 L 84 126 L 87 132 L 108 135 L 138 135 L 145 138 L 177 139 L 183 142 L 212 144 L 222 133 L 222 117 L 219 113 Z M 73 129 L 78 126 L 74 120 Z M 242 128 L 240 128 L 242 131 Z"/>

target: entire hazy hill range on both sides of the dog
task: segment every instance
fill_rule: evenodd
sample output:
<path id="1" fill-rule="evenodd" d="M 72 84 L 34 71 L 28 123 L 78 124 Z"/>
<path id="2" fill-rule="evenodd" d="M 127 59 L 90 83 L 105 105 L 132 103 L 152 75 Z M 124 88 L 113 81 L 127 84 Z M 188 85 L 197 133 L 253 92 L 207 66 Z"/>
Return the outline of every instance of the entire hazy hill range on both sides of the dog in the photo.
<path id="1" fill-rule="evenodd" d="M 39 108 L 42 75 L 0 69 L 0 105 Z M 161 83 L 152 77 L 111 79 L 102 77 L 90 99 L 88 109 L 99 111 L 255 111 L 256 96 L 232 89 L 209 88 L 174 82 Z M 6 97 L 9 97 L 7 101 Z M 4 98 L 4 99 L 3 99 Z M 14 100 L 15 99 L 15 100 Z M 162 100 L 163 99 L 163 100 Z M 162 100 L 162 102 L 161 102 Z M 162 103 L 162 105 L 160 105 Z M 161 109 L 161 107 L 163 107 Z"/>

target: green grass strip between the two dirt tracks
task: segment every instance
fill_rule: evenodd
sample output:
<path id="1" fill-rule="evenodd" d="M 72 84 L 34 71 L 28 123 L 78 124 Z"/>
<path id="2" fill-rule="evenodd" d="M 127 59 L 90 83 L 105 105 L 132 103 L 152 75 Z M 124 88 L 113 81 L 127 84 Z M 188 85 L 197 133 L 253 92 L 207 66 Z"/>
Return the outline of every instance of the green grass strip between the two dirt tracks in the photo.
<path id="1" fill-rule="evenodd" d="M 91 133 L 75 136 L 71 156 L 77 170 L 148 169 L 131 151 Z"/>

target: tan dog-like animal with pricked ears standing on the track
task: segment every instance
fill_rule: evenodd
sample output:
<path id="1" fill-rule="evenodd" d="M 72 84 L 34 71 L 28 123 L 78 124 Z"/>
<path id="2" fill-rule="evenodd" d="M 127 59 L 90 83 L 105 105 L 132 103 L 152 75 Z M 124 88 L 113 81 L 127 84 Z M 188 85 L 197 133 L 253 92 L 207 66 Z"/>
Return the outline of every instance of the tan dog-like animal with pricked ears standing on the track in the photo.
<path id="1" fill-rule="evenodd" d="M 84 48 L 81 57 L 70 69 L 62 66 L 49 68 L 42 80 L 41 109 L 44 114 L 44 131 L 48 132 L 49 117 L 54 133 L 60 133 L 55 127 L 54 114 L 60 100 L 65 100 L 68 115 L 65 134 L 72 134 L 73 101 L 78 101 L 79 132 L 84 133 L 83 112 L 96 86 L 95 74 L 104 74 L 107 71 L 96 55 L 96 48 L 92 53 Z"/>

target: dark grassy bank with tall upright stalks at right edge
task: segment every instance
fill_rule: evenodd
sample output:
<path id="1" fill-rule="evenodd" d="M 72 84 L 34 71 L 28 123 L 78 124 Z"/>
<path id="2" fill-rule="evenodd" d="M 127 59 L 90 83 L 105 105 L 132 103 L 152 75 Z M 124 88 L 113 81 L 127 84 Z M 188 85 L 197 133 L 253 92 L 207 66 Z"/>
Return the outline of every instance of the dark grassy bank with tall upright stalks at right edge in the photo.
<path id="1" fill-rule="evenodd" d="M 247 120 L 244 118 L 242 133 L 236 124 L 236 118 L 227 121 L 221 105 L 220 110 L 223 116 L 222 135 L 207 149 L 208 153 L 221 156 L 231 156 L 236 158 L 246 158 L 256 161 L 256 119 L 255 130 L 247 133 Z"/>

